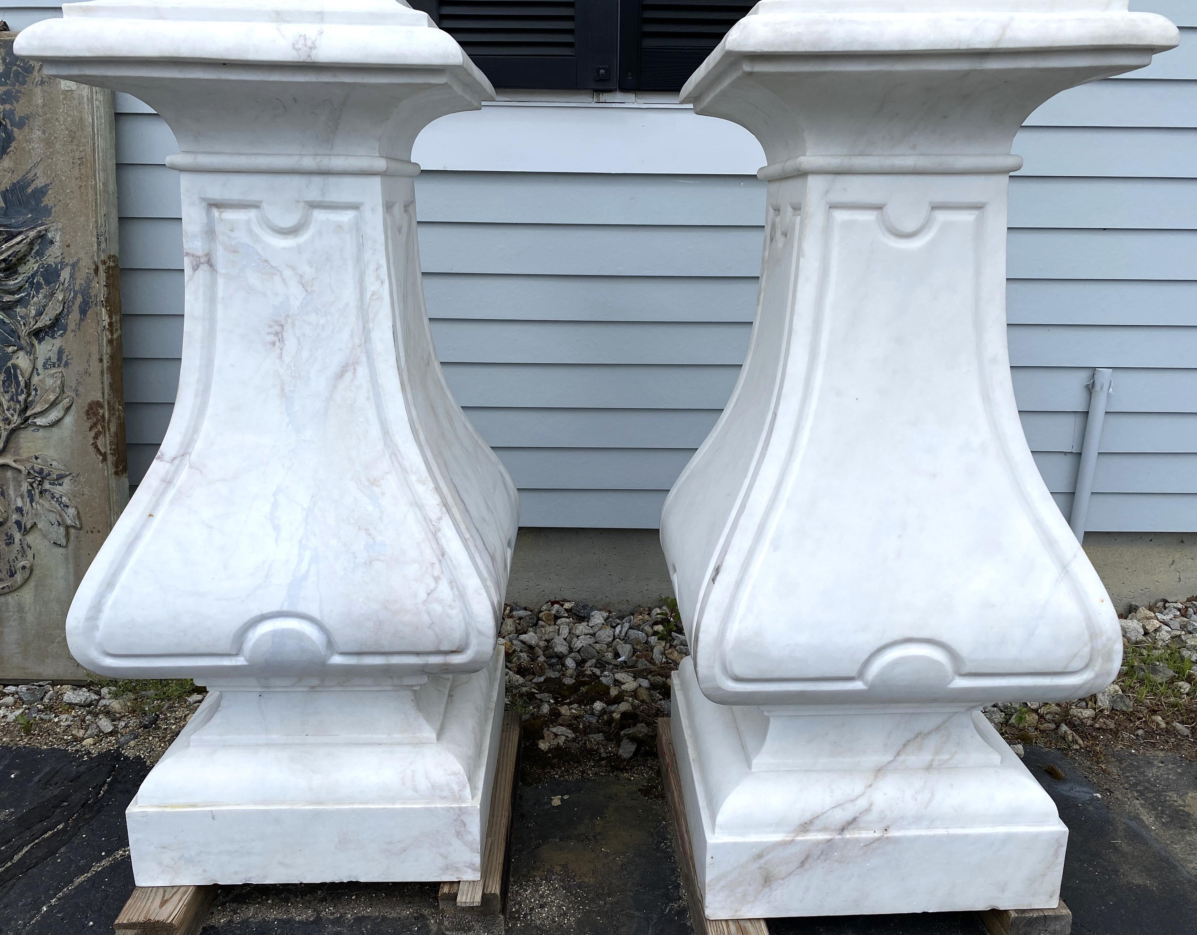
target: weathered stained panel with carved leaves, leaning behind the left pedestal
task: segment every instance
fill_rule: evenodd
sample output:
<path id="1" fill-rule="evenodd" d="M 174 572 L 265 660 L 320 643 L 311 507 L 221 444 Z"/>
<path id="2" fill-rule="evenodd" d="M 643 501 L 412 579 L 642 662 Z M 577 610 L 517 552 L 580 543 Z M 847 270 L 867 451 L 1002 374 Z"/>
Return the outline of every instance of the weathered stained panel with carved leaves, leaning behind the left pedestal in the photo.
<path id="1" fill-rule="evenodd" d="M 128 499 L 109 91 L 0 34 L 0 679 L 83 669 L 63 623 Z"/>

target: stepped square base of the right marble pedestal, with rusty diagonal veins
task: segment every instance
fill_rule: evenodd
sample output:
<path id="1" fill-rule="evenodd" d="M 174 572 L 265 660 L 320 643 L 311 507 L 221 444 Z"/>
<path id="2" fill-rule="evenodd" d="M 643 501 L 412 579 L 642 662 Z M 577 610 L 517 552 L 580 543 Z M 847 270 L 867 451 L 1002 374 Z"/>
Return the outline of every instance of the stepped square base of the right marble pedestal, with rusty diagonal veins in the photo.
<path id="1" fill-rule="evenodd" d="M 797 759 L 785 763 L 777 743 L 754 735 L 753 717 L 766 715 L 707 700 L 688 658 L 673 676 L 673 697 L 678 772 L 709 918 L 1058 904 L 1068 828 L 979 712 L 807 714 L 792 734 Z M 928 731 L 929 717 L 941 727 Z M 901 753 L 869 763 L 881 734 Z"/>

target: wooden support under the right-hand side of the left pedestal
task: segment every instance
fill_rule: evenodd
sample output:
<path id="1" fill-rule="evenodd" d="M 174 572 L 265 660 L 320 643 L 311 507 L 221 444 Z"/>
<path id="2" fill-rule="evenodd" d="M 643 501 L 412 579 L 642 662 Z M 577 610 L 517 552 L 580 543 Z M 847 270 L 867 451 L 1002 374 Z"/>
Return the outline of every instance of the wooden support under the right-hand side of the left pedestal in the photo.
<path id="1" fill-rule="evenodd" d="M 451 880 L 440 884 L 438 901 L 445 912 L 500 915 L 506 903 L 508 856 L 511 851 L 511 812 L 515 797 L 516 761 L 519 757 L 519 715 L 508 711 L 499 734 L 499 755 L 491 787 L 491 812 L 482 849 L 482 879 Z"/>

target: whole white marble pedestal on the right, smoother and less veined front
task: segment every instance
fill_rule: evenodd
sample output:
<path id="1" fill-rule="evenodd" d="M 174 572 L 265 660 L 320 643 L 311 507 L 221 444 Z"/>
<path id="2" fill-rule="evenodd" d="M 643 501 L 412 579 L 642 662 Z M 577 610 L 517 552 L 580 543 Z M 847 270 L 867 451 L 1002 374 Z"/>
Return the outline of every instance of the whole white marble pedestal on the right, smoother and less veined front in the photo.
<path id="1" fill-rule="evenodd" d="M 1118 6 L 764 0 L 682 92 L 768 159 L 748 359 L 662 515 L 710 918 L 1059 899 L 979 708 L 1100 690 L 1120 633 L 1019 423 L 1005 199 L 1031 111 L 1175 43 Z"/>

